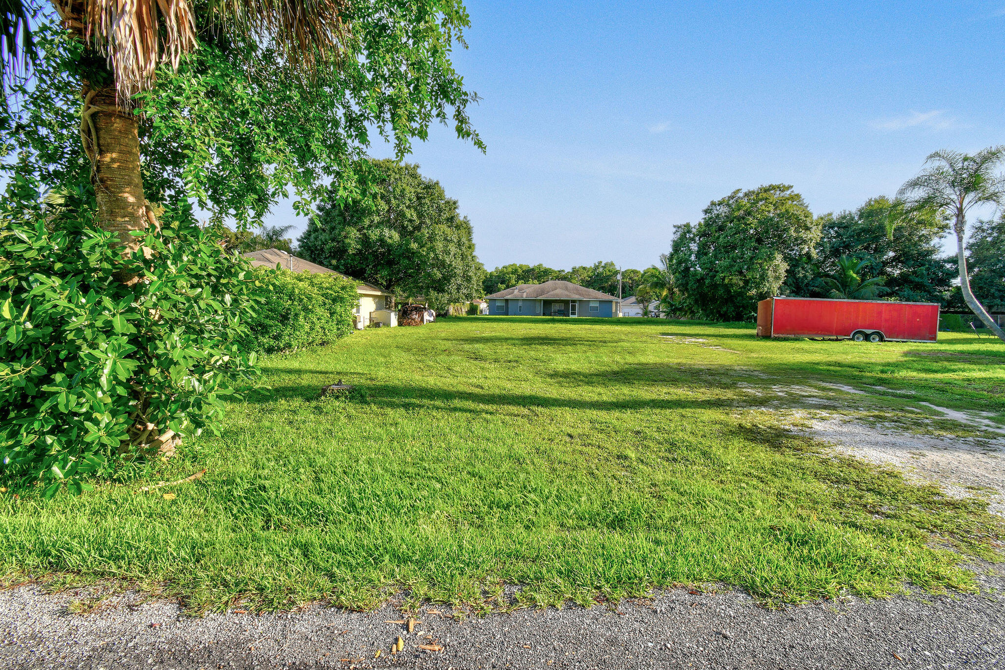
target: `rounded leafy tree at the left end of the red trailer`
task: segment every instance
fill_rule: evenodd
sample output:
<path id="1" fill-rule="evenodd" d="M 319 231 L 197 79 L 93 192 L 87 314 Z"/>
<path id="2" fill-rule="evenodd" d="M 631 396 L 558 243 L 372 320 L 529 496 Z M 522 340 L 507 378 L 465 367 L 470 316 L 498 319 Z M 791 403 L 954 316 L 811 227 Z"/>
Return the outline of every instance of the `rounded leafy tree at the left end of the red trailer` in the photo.
<path id="1" fill-rule="evenodd" d="M 789 267 L 814 254 L 820 221 L 791 186 L 736 190 L 679 226 L 668 259 L 679 307 L 716 320 L 751 318 L 775 295 Z"/>

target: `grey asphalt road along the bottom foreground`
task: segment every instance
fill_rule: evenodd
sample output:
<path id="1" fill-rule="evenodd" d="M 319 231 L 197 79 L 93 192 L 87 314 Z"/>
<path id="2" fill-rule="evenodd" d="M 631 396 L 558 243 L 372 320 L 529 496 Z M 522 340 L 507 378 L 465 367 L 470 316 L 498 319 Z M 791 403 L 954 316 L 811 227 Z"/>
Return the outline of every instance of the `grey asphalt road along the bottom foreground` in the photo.
<path id="1" fill-rule="evenodd" d="M 0 592 L 0 667 L 1005 668 L 1005 579 L 981 579 L 982 595 L 916 593 L 775 611 L 728 589 L 666 592 L 615 610 L 461 621 L 429 606 L 412 635 L 393 623 L 403 617 L 391 605 L 198 619 L 176 603 L 126 593 L 77 615 L 68 608 L 86 592 L 25 586 Z M 391 654 L 399 636 L 404 649 Z"/>

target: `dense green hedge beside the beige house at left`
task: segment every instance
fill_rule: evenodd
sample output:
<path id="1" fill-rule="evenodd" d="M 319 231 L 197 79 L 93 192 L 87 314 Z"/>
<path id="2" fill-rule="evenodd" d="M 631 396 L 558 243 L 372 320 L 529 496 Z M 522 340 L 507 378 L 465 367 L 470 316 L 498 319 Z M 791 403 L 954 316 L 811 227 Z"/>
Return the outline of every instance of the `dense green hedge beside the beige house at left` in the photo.
<path id="1" fill-rule="evenodd" d="M 273 354 L 335 342 L 353 329 L 356 285 L 337 274 L 255 268 L 262 301 L 248 321 L 248 348 Z"/>

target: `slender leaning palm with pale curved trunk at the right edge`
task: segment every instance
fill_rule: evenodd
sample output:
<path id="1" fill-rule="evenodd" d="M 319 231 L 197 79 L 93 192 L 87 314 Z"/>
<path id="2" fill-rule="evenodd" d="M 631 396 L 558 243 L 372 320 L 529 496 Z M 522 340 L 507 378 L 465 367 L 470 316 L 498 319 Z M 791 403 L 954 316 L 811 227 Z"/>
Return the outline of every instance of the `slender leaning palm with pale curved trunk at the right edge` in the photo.
<path id="1" fill-rule="evenodd" d="M 979 205 L 1005 205 L 1005 176 L 997 174 L 1005 160 L 1005 146 L 988 147 L 974 156 L 942 150 L 931 154 L 928 166 L 917 177 L 908 180 L 897 192 L 914 209 L 939 209 L 953 218 L 956 233 L 956 254 L 960 266 L 960 290 L 967 305 L 985 325 L 1005 341 L 1002 330 L 984 305 L 974 297 L 967 273 L 967 213 Z"/>

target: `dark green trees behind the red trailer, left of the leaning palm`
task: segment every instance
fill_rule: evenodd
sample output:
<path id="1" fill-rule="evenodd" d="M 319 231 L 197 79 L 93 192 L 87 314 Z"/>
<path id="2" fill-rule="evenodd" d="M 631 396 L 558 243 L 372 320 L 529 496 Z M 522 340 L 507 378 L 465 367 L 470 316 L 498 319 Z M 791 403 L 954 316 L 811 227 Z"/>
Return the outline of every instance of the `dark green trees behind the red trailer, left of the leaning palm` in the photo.
<path id="1" fill-rule="evenodd" d="M 851 256 L 864 261 L 864 272 L 885 277 L 890 296 L 944 301 L 954 269 L 939 257 L 939 239 L 948 231 L 935 210 L 906 211 L 902 203 L 870 198 L 854 211 L 823 217 L 817 260 L 826 274 L 841 271 L 840 259 Z"/>

